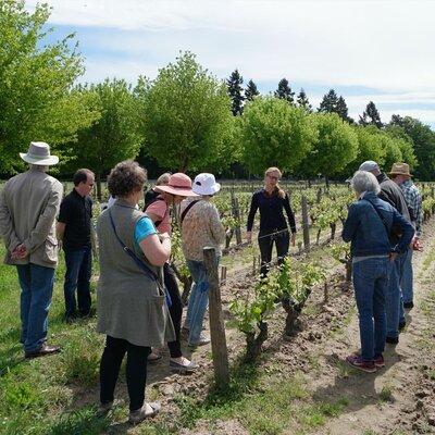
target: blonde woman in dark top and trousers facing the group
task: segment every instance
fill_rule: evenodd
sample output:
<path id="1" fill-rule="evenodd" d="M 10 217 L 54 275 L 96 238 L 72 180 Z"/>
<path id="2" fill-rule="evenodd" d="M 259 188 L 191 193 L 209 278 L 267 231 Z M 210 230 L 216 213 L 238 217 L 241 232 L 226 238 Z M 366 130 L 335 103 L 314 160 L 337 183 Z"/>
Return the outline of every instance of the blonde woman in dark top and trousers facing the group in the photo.
<path id="1" fill-rule="evenodd" d="M 258 237 L 261 253 L 261 274 L 268 274 L 272 261 L 273 244 L 276 246 L 278 264 L 288 253 L 290 236 L 288 233 L 287 214 L 291 231 L 291 245 L 295 246 L 296 224 L 288 195 L 278 186 L 282 173 L 277 167 L 269 167 L 264 173 L 264 187 L 252 195 L 251 207 L 248 215 L 247 239 L 252 239 L 253 219 L 260 209 L 260 233 Z"/>

